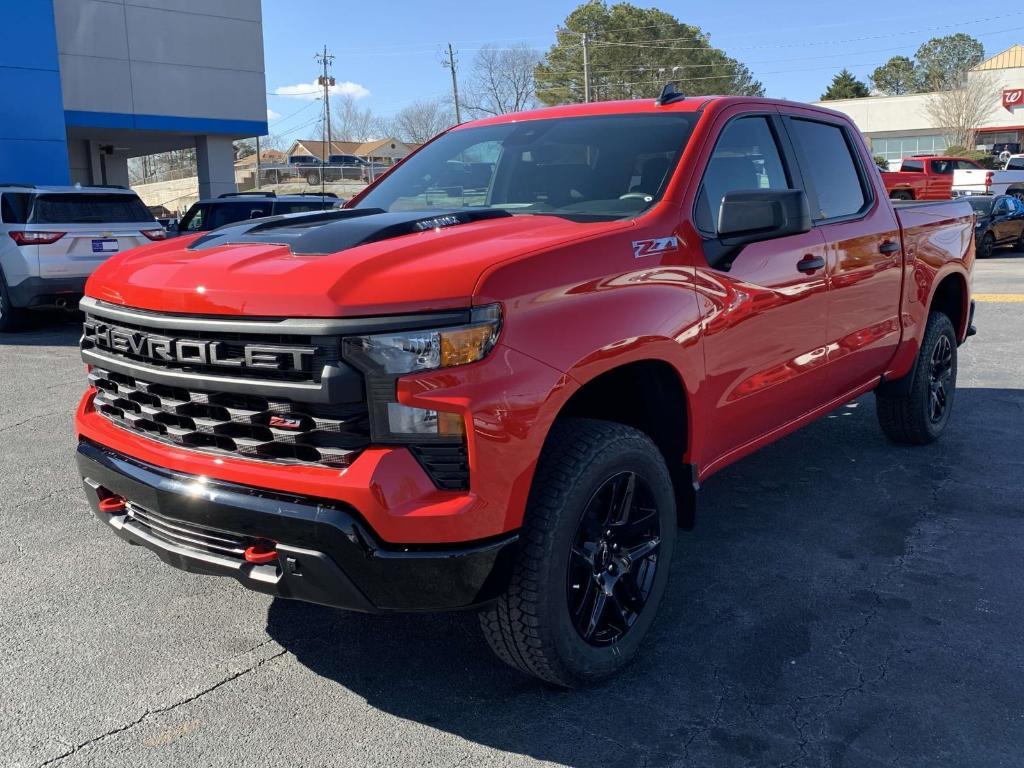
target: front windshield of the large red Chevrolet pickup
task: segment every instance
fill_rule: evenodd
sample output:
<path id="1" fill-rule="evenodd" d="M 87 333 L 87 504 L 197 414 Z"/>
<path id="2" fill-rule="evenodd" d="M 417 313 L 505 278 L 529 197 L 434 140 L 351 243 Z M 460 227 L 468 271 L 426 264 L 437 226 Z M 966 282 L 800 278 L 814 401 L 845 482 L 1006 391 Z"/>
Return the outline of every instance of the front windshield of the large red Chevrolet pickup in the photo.
<path id="1" fill-rule="evenodd" d="M 552 118 L 455 130 L 404 160 L 357 207 L 629 218 L 660 199 L 696 117 Z"/>

